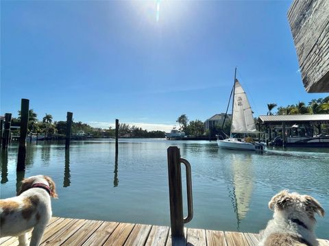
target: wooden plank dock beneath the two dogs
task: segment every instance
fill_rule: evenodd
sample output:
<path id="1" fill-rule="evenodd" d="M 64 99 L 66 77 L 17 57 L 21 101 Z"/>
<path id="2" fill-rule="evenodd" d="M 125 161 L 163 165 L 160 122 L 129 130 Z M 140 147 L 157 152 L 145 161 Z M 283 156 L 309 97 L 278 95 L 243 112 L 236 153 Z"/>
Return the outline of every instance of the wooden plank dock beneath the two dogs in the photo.
<path id="1" fill-rule="evenodd" d="M 259 236 L 253 233 L 222 232 L 184 228 L 188 245 L 236 246 L 257 245 Z M 31 233 L 29 234 L 31 237 Z M 0 238 L 1 246 L 16 246 L 16 237 Z M 169 227 L 119 222 L 90 221 L 86 219 L 51 218 L 43 235 L 41 246 L 48 245 L 171 245 Z M 319 239 L 319 246 L 328 246 L 329 240 Z"/>

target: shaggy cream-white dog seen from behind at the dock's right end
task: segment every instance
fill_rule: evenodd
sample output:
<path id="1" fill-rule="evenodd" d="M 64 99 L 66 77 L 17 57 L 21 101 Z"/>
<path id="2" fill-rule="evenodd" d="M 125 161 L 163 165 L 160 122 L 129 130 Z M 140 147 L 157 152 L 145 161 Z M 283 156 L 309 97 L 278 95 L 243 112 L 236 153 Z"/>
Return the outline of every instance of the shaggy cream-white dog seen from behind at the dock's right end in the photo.
<path id="1" fill-rule="evenodd" d="M 269 201 L 273 219 L 260 232 L 259 246 L 318 245 L 315 213 L 324 216 L 319 202 L 309 195 L 282 190 Z"/>

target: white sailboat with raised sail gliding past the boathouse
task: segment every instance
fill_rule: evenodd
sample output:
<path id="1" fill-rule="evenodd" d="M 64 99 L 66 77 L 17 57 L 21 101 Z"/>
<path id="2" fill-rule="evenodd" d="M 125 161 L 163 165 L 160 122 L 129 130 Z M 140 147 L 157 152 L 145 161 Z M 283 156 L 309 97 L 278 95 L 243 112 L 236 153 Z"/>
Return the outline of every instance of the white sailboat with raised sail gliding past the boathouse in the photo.
<path id="1" fill-rule="evenodd" d="M 234 84 L 232 92 L 233 100 L 230 138 L 219 140 L 217 136 L 217 145 L 226 149 L 241 149 L 251 151 L 263 150 L 263 145 L 260 143 L 254 143 L 252 138 L 234 138 L 234 134 L 258 133 L 254 122 L 254 117 L 252 116 L 252 108 L 250 107 L 247 95 L 239 83 L 239 80 L 236 79 L 236 69 L 234 73 Z"/>

